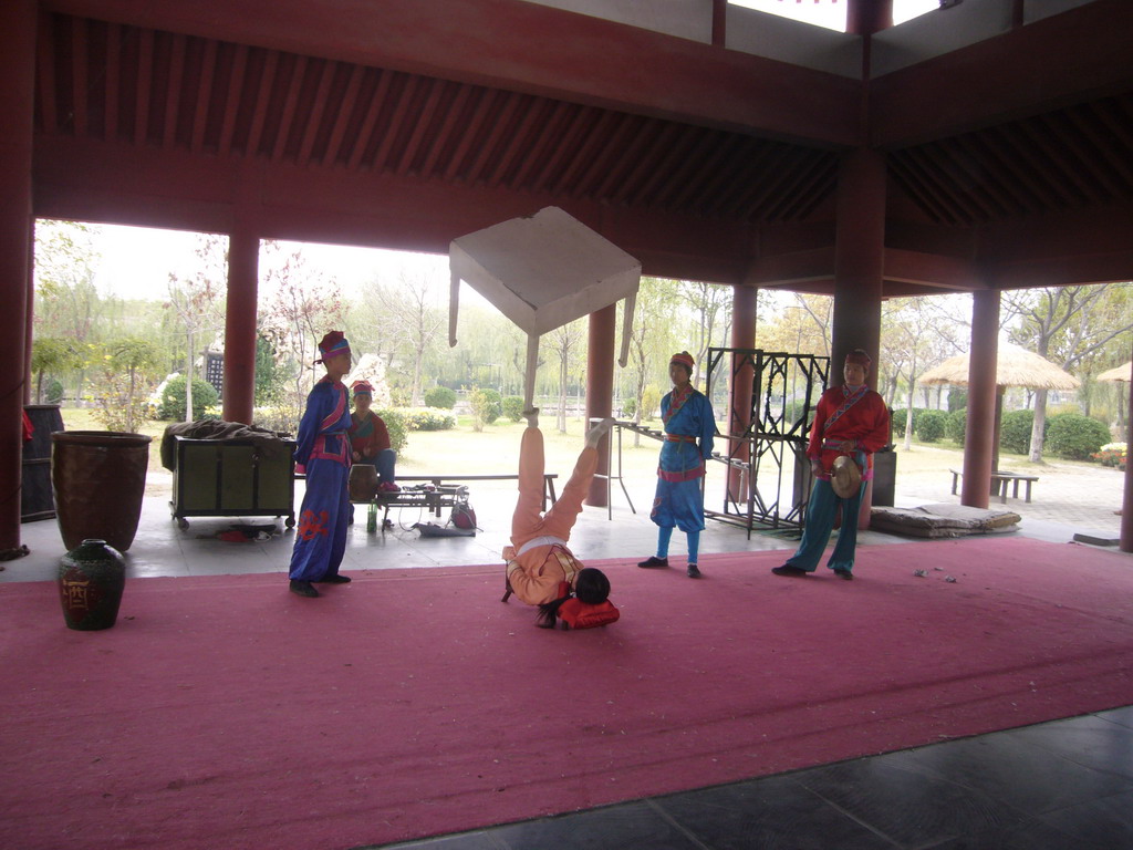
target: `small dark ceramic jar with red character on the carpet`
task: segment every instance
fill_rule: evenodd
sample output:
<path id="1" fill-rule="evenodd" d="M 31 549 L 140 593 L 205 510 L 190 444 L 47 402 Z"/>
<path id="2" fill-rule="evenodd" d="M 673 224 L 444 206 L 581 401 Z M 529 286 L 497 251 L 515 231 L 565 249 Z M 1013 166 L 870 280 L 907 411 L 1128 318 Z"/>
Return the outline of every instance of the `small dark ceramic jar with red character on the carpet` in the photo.
<path id="1" fill-rule="evenodd" d="M 126 587 L 126 560 L 105 541 L 85 539 L 60 559 L 57 584 L 67 628 L 109 629 Z"/>

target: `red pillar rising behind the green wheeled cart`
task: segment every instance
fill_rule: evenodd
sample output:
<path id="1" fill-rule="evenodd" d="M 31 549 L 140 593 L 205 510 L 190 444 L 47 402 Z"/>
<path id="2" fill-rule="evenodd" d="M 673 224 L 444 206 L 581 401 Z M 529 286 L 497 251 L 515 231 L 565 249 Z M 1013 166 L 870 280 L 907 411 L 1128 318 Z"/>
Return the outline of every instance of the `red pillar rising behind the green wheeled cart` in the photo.
<path id="1" fill-rule="evenodd" d="M 228 241 L 228 312 L 224 317 L 224 419 L 252 424 L 256 391 L 256 307 L 259 238 L 237 224 Z"/>

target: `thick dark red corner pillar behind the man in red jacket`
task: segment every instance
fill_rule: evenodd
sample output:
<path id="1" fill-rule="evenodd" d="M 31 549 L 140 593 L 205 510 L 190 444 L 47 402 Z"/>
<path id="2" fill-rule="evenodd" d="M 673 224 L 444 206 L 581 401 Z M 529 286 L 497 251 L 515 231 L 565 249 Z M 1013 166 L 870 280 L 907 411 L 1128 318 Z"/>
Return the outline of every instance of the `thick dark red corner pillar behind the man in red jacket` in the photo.
<path id="1" fill-rule="evenodd" d="M 832 386 L 842 384 L 846 355 L 863 348 L 874 362 L 867 382 L 876 390 L 885 272 L 885 156 L 881 153 L 859 147 L 843 155 L 838 167 L 836 216 L 829 383 Z M 858 515 L 860 528 L 869 526 L 872 496 L 870 482 Z"/>

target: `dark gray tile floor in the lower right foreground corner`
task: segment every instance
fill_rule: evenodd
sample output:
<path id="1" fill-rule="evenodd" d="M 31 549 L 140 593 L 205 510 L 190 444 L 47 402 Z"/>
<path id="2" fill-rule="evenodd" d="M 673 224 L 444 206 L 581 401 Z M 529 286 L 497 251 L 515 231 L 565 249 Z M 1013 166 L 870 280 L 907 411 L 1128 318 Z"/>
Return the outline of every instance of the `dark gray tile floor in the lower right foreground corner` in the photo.
<path id="1" fill-rule="evenodd" d="M 1133 707 L 387 847 L 1131 848 Z"/>

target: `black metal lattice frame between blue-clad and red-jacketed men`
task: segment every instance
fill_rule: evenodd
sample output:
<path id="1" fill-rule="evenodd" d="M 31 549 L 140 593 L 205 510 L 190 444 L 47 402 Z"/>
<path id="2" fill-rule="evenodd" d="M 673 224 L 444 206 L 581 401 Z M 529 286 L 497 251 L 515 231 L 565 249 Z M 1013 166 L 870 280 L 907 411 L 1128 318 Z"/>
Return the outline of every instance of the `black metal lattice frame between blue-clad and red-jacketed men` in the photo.
<path id="1" fill-rule="evenodd" d="M 715 409 L 729 411 L 729 430 L 746 424 L 742 433 L 721 434 L 727 465 L 722 511 L 705 508 L 705 516 L 748 529 L 785 529 L 802 533 L 811 477 L 804 461 L 815 407 L 826 389 L 829 358 L 816 355 L 764 351 L 757 348 L 709 348 L 705 394 Z M 750 379 L 748 377 L 750 375 Z M 751 393 L 739 383 L 751 382 Z M 715 389 L 714 389 L 715 388 Z M 718 397 L 718 398 L 717 398 Z M 746 410 L 734 400 L 750 398 Z M 786 460 L 790 458 L 790 467 Z M 791 476 L 787 501 L 785 477 Z"/>

